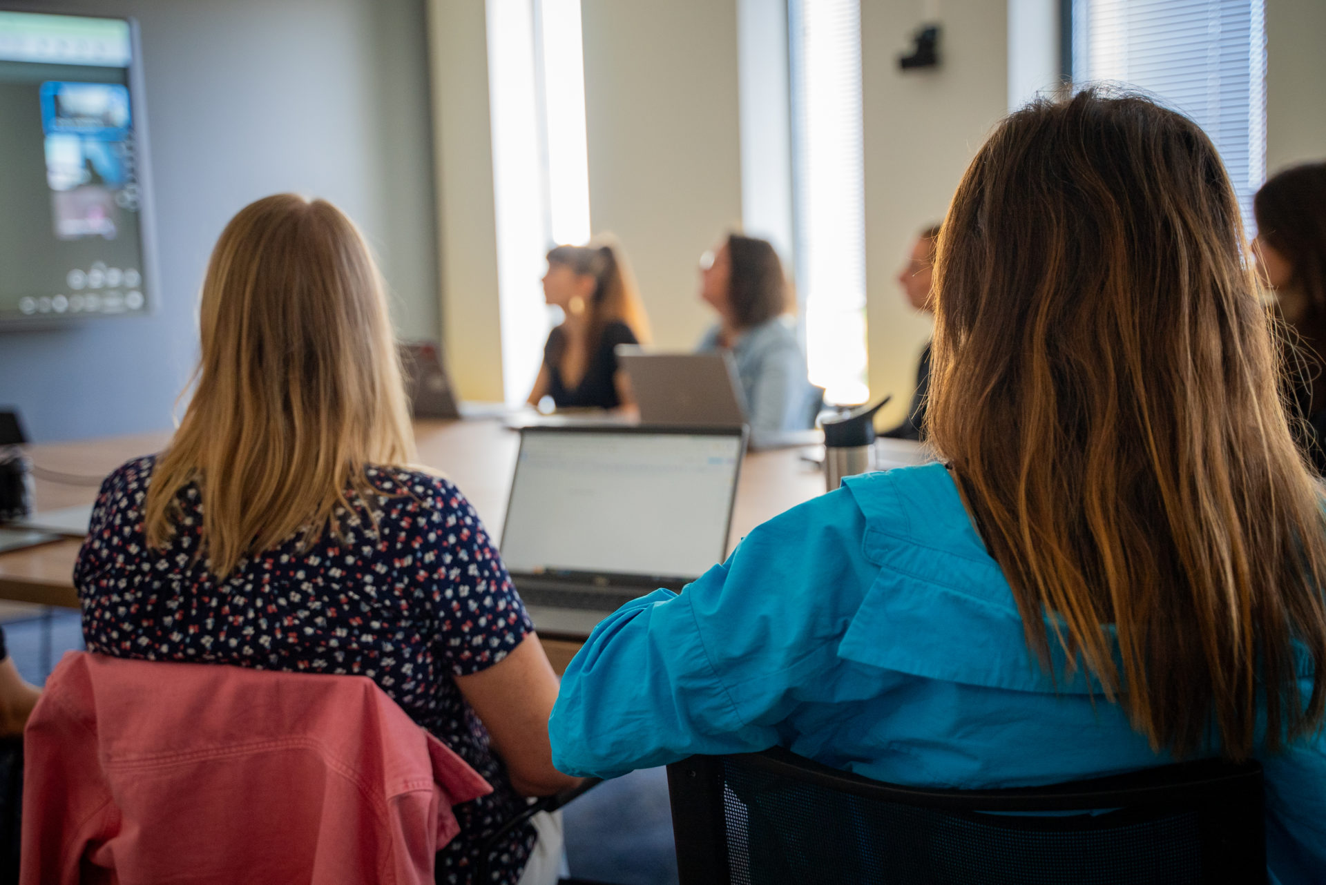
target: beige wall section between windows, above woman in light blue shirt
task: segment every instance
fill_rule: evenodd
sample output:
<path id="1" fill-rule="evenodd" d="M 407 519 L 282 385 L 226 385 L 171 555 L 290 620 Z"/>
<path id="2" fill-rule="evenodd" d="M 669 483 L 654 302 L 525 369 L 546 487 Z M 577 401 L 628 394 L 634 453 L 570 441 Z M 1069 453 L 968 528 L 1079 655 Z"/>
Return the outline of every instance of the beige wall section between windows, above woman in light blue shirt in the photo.
<path id="1" fill-rule="evenodd" d="M 635 268 L 662 347 L 712 314 L 696 261 L 741 221 L 736 0 L 583 0 L 590 220 Z"/>

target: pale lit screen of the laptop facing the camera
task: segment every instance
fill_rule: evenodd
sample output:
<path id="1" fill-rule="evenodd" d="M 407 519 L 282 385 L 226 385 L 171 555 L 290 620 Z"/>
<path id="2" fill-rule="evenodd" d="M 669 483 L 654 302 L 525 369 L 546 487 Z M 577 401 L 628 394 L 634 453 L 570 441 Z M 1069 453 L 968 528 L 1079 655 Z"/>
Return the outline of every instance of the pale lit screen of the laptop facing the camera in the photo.
<path id="1" fill-rule="evenodd" d="M 723 559 L 741 437 L 533 432 L 501 555 L 513 572 L 697 578 Z"/>

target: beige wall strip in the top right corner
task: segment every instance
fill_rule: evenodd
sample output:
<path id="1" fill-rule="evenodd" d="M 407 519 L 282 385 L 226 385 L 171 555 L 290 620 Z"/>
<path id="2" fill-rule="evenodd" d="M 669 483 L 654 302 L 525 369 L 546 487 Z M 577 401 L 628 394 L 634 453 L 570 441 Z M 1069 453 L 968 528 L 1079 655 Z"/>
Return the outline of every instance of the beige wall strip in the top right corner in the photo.
<path id="1" fill-rule="evenodd" d="M 1326 0 L 1266 0 L 1266 172 L 1326 160 Z"/>

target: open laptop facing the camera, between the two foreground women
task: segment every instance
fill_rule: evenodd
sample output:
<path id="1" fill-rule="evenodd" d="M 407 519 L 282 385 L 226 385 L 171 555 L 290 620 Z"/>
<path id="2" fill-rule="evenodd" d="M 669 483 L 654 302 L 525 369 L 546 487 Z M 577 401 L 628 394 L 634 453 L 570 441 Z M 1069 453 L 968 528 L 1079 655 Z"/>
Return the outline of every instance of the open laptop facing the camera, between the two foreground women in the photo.
<path id="1" fill-rule="evenodd" d="M 744 428 L 529 427 L 501 556 L 534 627 L 583 639 L 727 554 Z"/>

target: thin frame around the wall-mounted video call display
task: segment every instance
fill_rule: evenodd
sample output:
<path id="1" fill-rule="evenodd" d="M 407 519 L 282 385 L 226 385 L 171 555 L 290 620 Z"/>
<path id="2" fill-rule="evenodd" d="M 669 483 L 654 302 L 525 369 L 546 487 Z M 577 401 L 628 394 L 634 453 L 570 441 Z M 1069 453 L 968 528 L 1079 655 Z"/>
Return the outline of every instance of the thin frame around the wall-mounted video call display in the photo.
<path id="1" fill-rule="evenodd" d="M 139 241 L 143 248 L 143 261 L 139 273 L 143 277 L 142 310 L 126 311 L 121 314 L 44 314 L 40 317 L 0 317 L 0 331 L 25 331 L 41 329 L 65 329 L 84 322 L 99 322 L 102 319 L 129 319 L 133 317 L 151 317 L 159 309 L 158 297 L 160 293 L 159 265 L 156 252 L 156 211 L 155 188 L 152 187 L 152 159 L 151 139 L 149 138 L 146 83 L 143 79 L 143 52 L 142 40 L 138 33 L 138 20 L 133 16 L 98 16 L 85 11 L 68 8 L 50 8 L 45 4 L 34 3 L 4 3 L 0 1 L 0 12 L 30 12 L 42 16 L 65 16 L 70 19 L 101 19 L 125 21 L 129 24 L 129 46 L 133 57 L 129 60 L 129 101 L 134 115 L 134 151 L 138 156 L 138 187 L 142 192 L 142 205 L 139 208 Z"/>

